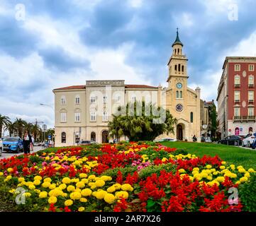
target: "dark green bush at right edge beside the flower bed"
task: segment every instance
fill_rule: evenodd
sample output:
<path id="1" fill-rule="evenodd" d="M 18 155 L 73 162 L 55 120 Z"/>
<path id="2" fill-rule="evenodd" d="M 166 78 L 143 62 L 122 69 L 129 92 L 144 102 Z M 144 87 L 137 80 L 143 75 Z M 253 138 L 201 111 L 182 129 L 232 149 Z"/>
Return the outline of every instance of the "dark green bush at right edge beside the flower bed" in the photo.
<path id="1" fill-rule="evenodd" d="M 250 182 L 240 185 L 238 192 L 244 210 L 256 212 L 256 174 L 251 174 Z"/>

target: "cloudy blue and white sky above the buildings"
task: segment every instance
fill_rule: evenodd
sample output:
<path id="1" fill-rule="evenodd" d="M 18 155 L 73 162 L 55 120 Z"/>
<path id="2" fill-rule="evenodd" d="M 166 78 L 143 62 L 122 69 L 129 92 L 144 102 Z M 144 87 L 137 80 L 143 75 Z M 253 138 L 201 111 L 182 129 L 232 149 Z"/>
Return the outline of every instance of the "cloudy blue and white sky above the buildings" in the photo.
<path id="1" fill-rule="evenodd" d="M 216 99 L 226 56 L 256 56 L 254 0 L 0 0 L 0 114 L 54 126 L 52 89 L 162 85 L 179 27 L 189 86 Z M 238 14 L 236 14 L 238 11 Z"/>

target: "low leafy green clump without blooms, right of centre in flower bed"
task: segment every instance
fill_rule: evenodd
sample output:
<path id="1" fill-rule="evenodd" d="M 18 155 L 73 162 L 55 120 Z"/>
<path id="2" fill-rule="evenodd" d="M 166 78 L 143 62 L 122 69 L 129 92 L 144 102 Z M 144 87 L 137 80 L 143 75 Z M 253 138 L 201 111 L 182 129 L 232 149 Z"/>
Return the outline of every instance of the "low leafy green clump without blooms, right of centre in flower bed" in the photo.
<path id="1" fill-rule="evenodd" d="M 157 174 L 157 176 L 160 176 L 160 172 L 164 169 L 167 172 L 171 172 L 171 171 L 175 172 L 176 167 L 174 167 L 172 163 L 161 164 L 161 165 L 150 165 L 140 170 L 139 177 L 140 179 L 146 179 L 147 177 L 150 177 L 152 174 Z"/>

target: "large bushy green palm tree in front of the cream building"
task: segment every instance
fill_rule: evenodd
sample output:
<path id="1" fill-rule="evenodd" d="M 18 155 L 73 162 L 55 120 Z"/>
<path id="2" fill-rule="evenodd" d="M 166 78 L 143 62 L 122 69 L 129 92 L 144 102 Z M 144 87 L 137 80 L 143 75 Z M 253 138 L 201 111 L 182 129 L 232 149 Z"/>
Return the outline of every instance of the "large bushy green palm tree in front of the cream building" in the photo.
<path id="1" fill-rule="evenodd" d="M 130 141 L 153 141 L 162 133 L 174 133 L 174 124 L 177 119 L 172 117 L 169 110 L 145 102 L 128 103 L 123 109 L 123 114 L 113 115 L 113 120 L 108 123 L 109 136 L 120 138 L 128 136 Z M 139 110 L 138 110 L 139 109 Z M 154 120 L 160 119 L 154 112 L 165 115 L 161 123 Z"/>

